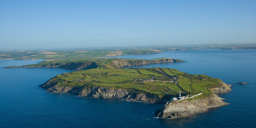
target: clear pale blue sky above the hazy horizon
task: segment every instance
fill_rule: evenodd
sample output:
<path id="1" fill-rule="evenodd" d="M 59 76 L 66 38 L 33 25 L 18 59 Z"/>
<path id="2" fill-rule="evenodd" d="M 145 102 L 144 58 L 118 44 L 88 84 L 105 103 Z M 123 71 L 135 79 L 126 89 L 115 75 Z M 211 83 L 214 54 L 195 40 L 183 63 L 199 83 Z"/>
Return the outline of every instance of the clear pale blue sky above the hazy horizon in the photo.
<path id="1" fill-rule="evenodd" d="M 0 0 L 0 50 L 234 43 L 255 0 Z"/>

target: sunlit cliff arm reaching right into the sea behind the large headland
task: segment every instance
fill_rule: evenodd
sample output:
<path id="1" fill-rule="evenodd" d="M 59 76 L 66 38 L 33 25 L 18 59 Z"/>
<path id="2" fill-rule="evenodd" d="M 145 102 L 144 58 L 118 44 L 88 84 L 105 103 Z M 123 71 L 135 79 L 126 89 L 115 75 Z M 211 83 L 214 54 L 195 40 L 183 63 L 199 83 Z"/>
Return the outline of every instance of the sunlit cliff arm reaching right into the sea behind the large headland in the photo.
<path id="1" fill-rule="evenodd" d="M 184 62 L 183 60 L 176 59 L 158 59 L 158 60 L 114 60 L 109 63 L 110 66 L 115 68 L 122 68 L 128 66 L 135 66 L 141 64 L 152 64 L 152 63 L 167 63 L 167 62 Z"/>

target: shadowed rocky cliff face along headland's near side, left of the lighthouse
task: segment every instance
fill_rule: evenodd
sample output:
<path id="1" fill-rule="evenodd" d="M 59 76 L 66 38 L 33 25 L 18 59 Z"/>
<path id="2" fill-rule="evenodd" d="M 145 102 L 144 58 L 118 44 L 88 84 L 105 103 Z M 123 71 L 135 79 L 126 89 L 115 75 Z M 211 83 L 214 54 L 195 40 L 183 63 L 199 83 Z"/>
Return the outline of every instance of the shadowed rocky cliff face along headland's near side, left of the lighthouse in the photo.
<path id="1" fill-rule="evenodd" d="M 133 89 L 111 89 L 110 87 L 80 87 L 73 88 L 69 86 L 59 87 L 55 83 L 46 82 L 40 85 L 42 88 L 46 88 L 46 91 L 52 93 L 69 93 L 78 96 L 87 96 L 93 98 L 125 98 L 128 101 L 142 101 L 148 103 L 158 103 L 162 96 L 155 96 L 150 94 L 141 94 L 134 92 Z"/>

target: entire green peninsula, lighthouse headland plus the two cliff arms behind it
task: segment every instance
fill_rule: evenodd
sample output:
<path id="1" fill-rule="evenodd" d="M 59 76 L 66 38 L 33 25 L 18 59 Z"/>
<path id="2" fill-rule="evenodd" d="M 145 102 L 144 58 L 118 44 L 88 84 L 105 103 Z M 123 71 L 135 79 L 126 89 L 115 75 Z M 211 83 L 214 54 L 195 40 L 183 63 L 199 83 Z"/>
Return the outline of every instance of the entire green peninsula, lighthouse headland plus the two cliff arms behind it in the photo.
<path id="1" fill-rule="evenodd" d="M 124 98 L 128 101 L 164 103 L 155 116 L 187 117 L 209 108 L 228 105 L 219 93 L 232 91 L 229 84 L 206 75 L 191 75 L 169 68 L 130 68 L 128 66 L 184 62 L 180 59 L 88 58 L 45 60 L 39 64 L 5 68 L 62 68 L 62 73 L 40 85 L 51 93 L 69 93 L 94 98 Z M 178 97 L 182 100 L 172 100 Z M 184 98 L 185 97 L 185 98 Z"/>

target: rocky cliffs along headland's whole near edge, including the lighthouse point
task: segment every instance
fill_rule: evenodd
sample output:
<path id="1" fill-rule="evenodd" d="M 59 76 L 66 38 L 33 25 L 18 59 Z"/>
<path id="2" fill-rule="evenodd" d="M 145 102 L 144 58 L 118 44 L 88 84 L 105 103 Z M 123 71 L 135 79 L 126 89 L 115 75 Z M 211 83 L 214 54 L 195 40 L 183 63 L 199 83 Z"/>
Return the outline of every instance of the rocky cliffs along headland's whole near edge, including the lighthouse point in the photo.
<path id="1" fill-rule="evenodd" d="M 147 93 L 138 93 L 133 89 L 111 89 L 110 87 L 69 87 L 63 86 L 59 87 L 59 85 L 55 85 L 51 83 L 49 80 L 44 84 L 40 85 L 42 88 L 46 88 L 46 91 L 51 93 L 69 93 L 75 94 L 77 96 L 82 97 L 93 97 L 93 98 L 124 98 L 128 101 L 141 101 L 147 103 L 163 103 L 162 95 L 152 95 Z M 200 99 L 190 99 L 183 101 L 173 101 L 170 104 L 164 104 L 159 110 L 154 112 L 156 117 L 159 118 L 182 118 L 194 115 L 199 112 L 206 112 L 209 108 L 220 107 L 224 105 L 228 105 L 220 98 L 219 93 L 227 93 L 232 91 L 232 85 L 222 83 L 222 87 L 219 88 L 210 88 L 214 94 L 205 94 L 206 96 Z"/>

